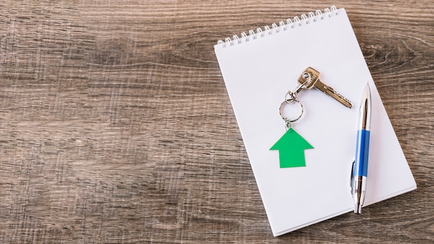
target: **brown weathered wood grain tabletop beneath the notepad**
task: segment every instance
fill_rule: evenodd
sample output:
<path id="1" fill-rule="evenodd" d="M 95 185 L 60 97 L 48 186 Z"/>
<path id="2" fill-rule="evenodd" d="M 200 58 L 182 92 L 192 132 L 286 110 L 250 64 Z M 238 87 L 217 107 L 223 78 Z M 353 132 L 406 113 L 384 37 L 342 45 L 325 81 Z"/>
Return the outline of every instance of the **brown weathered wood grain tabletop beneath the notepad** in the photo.
<path id="1" fill-rule="evenodd" d="M 274 238 L 214 44 L 333 4 L 418 188 Z M 433 6 L 1 1 L 0 243 L 433 243 Z"/>

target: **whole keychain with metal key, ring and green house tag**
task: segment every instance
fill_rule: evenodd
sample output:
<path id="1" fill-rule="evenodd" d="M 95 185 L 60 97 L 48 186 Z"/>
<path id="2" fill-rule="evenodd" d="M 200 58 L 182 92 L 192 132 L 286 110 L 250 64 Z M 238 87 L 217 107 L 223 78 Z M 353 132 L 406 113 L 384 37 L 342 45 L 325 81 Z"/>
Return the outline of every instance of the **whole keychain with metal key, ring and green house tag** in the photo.
<path id="1" fill-rule="evenodd" d="M 280 168 L 293 168 L 293 167 L 304 167 L 306 166 L 306 161 L 304 159 L 304 150 L 312 149 L 313 146 L 306 141 L 300 134 L 298 134 L 293 128 L 291 123 L 298 121 L 304 112 L 303 104 L 297 100 L 297 94 L 302 89 L 311 89 L 315 87 L 319 89 L 324 94 L 327 94 L 334 98 L 345 107 L 353 107 L 352 103 L 344 96 L 338 94 L 333 88 L 324 84 L 320 80 L 320 72 L 316 71 L 311 67 L 307 67 L 302 73 L 300 78 L 298 78 L 300 85 L 295 89 L 295 92 L 288 91 L 285 95 L 285 100 L 280 104 L 279 114 L 281 119 L 285 122 L 286 132 L 285 134 L 273 145 L 270 150 L 279 150 L 279 161 Z M 287 105 L 300 105 L 301 113 L 295 119 L 290 119 L 288 116 L 284 115 L 284 107 Z"/>

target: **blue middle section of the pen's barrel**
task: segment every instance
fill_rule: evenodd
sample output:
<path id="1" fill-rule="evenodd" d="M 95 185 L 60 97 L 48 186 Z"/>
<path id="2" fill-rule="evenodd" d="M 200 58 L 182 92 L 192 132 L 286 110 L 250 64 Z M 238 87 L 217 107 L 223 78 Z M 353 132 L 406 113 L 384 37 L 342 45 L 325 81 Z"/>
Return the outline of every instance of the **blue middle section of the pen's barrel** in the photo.
<path id="1" fill-rule="evenodd" d="M 367 159 L 370 151 L 370 131 L 358 130 L 356 143 L 356 164 L 354 176 L 367 177 Z"/>

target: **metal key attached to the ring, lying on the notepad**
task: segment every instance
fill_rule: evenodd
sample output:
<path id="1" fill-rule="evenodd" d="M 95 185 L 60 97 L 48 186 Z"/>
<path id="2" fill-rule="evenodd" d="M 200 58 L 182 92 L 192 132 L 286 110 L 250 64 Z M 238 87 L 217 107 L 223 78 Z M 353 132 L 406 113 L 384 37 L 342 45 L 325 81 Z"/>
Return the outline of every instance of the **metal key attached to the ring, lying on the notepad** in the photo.
<path id="1" fill-rule="evenodd" d="M 303 87 L 306 89 L 311 89 L 312 87 L 319 89 L 321 92 L 335 98 L 336 101 L 342 103 L 345 107 L 353 107 L 353 104 L 347 98 L 338 94 L 338 92 L 333 90 L 333 88 L 321 82 L 320 72 L 311 67 L 307 67 L 307 69 L 303 71 L 302 75 L 298 78 L 298 82 L 304 84 Z"/>

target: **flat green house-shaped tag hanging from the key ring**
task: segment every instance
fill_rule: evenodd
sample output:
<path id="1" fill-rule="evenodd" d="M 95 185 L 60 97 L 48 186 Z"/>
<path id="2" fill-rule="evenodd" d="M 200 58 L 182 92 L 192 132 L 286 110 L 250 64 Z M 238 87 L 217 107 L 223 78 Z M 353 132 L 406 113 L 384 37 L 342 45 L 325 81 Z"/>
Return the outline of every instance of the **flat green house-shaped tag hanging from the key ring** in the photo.
<path id="1" fill-rule="evenodd" d="M 304 150 L 311 148 L 309 142 L 289 128 L 270 150 L 279 150 L 280 168 L 293 168 L 306 166 Z"/>

